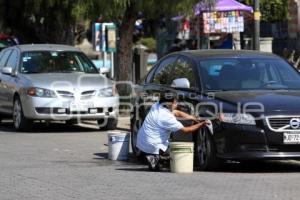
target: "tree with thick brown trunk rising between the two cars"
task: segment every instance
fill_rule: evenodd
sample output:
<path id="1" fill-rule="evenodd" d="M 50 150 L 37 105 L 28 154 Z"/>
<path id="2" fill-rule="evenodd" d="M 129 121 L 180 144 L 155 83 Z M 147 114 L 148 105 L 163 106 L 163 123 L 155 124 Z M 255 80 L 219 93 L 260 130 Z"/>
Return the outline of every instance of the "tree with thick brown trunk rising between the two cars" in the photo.
<path id="1" fill-rule="evenodd" d="M 199 0 L 102 0 L 98 1 L 96 9 L 105 13 L 105 16 L 114 20 L 119 25 L 117 63 L 117 80 L 131 80 L 132 65 L 132 39 L 134 23 L 138 12 L 143 12 L 146 17 L 158 18 L 164 16 L 176 16 L 179 12 L 191 13 Z M 213 4 L 215 0 L 202 0 L 206 4 Z M 116 17 L 116 13 L 118 16 Z"/>

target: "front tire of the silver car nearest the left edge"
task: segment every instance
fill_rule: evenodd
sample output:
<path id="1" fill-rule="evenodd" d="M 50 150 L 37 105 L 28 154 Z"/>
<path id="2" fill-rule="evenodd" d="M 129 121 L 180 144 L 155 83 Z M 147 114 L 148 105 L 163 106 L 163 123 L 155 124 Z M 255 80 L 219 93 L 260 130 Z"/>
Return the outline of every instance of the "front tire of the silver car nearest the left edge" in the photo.
<path id="1" fill-rule="evenodd" d="M 33 121 L 24 116 L 21 100 L 16 97 L 13 106 L 13 124 L 16 131 L 30 131 Z"/>

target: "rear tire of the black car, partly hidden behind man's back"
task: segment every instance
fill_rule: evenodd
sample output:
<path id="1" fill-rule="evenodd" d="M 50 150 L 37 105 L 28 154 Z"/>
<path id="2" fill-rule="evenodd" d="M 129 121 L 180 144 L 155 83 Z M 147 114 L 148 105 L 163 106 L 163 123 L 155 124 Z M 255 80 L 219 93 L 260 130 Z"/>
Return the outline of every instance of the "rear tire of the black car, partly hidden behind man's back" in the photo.
<path id="1" fill-rule="evenodd" d="M 130 120 L 131 148 L 132 148 L 133 154 L 138 159 L 141 159 L 141 157 L 142 157 L 142 152 L 136 147 L 136 144 L 137 144 L 137 134 L 138 134 L 138 130 L 140 129 L 141 125 L 142 124 L 141 124 L 140 120 L 136 119 L 135 116 L 133 116 L 132 119 Z"/>

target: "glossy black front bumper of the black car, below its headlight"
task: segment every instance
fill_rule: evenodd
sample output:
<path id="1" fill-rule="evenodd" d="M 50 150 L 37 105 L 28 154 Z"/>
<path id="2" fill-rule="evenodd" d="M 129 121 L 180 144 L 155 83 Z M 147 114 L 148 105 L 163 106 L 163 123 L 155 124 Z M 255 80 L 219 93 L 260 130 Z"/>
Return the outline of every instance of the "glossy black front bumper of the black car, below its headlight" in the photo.
<path id="1" fill-rule="evenodd" d="M 223 124 L 214 135 L 217 156 L 229 160 L 300 158 L 300 144 L 283 144 L 282 135 L 257 126 Z"/>

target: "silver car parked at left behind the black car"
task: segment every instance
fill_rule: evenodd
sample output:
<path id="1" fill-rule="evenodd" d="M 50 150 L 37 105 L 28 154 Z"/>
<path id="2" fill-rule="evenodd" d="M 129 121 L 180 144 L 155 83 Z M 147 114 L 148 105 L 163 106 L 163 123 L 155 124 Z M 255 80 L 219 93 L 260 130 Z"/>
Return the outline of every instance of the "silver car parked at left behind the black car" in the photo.
<path id="1" fill-rule="evenodd" d="M 114 129 L 118 106 L 114 82 L 74 47 L 19 45 L 0 53 L 0 119 L 12 117 L 16 130 L 36 120 L 87 119 Z"/>

